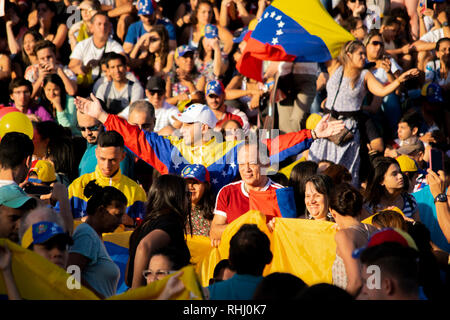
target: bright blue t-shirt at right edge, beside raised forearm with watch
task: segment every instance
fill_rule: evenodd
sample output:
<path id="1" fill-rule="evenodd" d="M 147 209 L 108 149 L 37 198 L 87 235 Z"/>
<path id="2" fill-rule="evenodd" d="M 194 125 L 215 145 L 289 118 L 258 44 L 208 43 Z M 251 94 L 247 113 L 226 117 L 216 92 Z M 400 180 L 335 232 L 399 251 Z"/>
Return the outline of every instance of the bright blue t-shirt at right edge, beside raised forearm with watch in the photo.
<path id="1" fill-rule="evenodd" d="M 412 195 L 416 198 L 420 221 L 430 230 L 431 241 L 445 252 L 450 253 L 450 243 L 448 243 L 439 226 L 436 206 L 430 187 L 426 186 L 422 190 L 414 192 Z"/>

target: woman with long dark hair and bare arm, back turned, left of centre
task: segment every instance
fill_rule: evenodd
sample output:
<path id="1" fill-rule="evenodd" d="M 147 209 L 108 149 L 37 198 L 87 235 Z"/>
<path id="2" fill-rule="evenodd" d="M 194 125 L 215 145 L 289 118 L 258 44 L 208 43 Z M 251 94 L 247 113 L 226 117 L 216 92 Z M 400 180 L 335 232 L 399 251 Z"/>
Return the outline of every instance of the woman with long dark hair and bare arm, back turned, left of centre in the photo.
<path id="1" fill-rule="evenodd" d="M 186 245 L 187 226 L 191 226 L 190 192 L 183 178 L 162 175 L 151 186 L 147 210 L 141 225 L 130 237 L 125 283 L 131 288 L 146 284 L 142 272 L 152 253 L 165 246 L 173 246 L 180 254 L 190 257 Z"/>

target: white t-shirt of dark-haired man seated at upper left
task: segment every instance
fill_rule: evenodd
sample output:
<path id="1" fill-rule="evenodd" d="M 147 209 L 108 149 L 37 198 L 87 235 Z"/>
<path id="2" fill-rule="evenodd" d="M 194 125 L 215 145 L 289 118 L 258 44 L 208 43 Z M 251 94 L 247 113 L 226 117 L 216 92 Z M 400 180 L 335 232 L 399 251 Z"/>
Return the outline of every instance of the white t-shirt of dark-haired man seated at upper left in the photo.
<path id="1" fill-rule="evenodd" d="M 104 48 L 97 48 L 94 45 L 93 38 L 89 37 L 86 40 L 77 43 L 72 54 L 70 55 L 70 59 L 81 60 L 83 65 L 87 65 L 92 59 L 100 60 L 102 54 L 107 52 L 122 53 L 124 51 L 120 43 L 112 39 L 108 39 L 108 41 L 106 41 Z M 100 67 L 98 66 L 92 70 L 92 75 L 96 77 L 99 72 Z"/>

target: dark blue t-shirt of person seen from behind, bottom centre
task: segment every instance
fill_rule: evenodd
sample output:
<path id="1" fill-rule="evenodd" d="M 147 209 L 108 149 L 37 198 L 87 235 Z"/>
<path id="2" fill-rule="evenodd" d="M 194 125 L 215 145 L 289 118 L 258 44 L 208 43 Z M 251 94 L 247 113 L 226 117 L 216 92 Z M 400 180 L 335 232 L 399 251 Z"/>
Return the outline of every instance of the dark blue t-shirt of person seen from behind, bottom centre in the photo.
<path id="1" fill-rule="evenodd" d="M 235 274 L 228 280 L 208 287 L 210 300 L 252 300 L 262 276 Z"/>

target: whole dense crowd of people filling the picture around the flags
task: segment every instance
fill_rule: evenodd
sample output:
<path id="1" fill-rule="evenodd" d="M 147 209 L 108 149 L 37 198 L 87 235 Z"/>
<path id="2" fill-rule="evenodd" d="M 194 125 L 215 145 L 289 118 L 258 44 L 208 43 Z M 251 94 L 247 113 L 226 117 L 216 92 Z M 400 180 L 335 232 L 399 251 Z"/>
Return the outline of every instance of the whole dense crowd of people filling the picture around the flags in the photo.
<path id="1" fill-rule="evenodd" d="M 335 224 L 332 284 L 263 276 L 270 240 L 245 224 L 205 298 L 447 297 L 450 1 L 320 0 L 354 40 L 324 63 L 265 61 L 259 82 L 237 63 L 271 2 L 6 1 L 0 104 L 34 134 L 0 141 L 0 238 L 78 266 L 104 299 L 121 276 L 134 289 L 189 265 L 188 235 L 217 247 L 263 199 L 270 232 L 275 217 Z M 126 270 L 102 237 L 121 231 Z M 21 299 L 7 247 L 0 271 Z"/>

